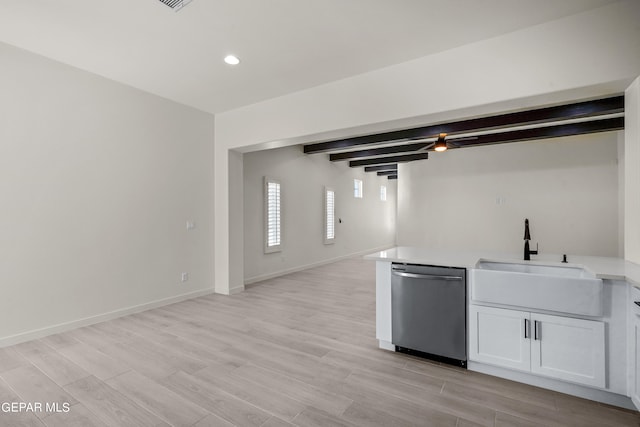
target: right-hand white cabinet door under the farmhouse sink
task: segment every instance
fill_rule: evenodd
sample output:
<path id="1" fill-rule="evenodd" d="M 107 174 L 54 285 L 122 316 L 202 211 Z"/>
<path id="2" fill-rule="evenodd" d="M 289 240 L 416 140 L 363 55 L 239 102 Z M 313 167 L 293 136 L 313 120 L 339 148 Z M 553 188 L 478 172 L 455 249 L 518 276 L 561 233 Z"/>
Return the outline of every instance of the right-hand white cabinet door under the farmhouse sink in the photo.
<path id="1" fill-rule="evenodd" d="M 605 386 L 604 323 L 531 314 L 531 372 Z"/>

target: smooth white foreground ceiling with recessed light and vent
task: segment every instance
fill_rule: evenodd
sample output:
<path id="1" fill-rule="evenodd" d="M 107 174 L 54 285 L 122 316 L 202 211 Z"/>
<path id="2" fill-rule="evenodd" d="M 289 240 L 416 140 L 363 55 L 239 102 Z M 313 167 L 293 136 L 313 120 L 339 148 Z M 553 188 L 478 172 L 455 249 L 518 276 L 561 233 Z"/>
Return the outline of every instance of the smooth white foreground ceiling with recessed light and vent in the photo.
<path id="1" fill-rule="evenodd" d="M 0 41 L 217 113 L 615 1 L 0 0 Z"/>

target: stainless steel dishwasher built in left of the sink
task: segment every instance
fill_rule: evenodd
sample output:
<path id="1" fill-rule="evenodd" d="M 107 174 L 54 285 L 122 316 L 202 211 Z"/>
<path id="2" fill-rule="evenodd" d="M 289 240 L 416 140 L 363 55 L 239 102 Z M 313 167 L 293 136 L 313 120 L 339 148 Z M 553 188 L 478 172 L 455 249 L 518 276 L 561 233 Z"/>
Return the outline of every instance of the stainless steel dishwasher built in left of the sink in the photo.
<path id="1" fill-rule="evenodd" d="M 393 263 L 391 341 L 396 351 L 467 366 L 464 268 Z"/>

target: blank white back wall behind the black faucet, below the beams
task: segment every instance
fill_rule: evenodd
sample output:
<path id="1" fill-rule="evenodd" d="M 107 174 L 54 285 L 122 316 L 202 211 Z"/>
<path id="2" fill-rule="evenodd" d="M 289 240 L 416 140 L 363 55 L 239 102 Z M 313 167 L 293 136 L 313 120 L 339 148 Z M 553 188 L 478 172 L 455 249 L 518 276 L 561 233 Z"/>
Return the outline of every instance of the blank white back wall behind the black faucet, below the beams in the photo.
<path id="1" fill-rule="evenodd" d="M 434 153 L 400 165 L 399 246 L 620 256 L 618 133 Z"/>

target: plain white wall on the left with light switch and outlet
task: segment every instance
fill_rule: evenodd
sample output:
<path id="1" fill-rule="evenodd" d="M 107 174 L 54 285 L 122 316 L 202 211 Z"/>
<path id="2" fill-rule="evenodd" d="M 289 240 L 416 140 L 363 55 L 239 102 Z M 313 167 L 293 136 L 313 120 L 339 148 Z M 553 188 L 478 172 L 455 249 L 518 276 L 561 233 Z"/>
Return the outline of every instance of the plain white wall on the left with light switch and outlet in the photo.
<path id="1" fill-rule="evenodd" d="M 213 117 L 5 44 L 0 64 L 0 345 L 211 290 Z"/>

